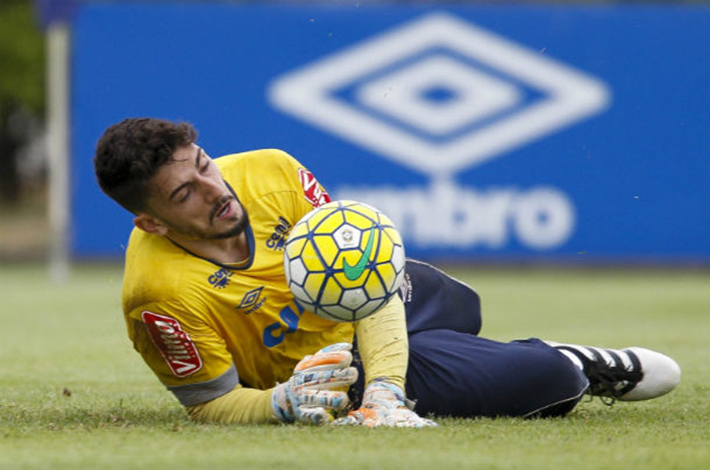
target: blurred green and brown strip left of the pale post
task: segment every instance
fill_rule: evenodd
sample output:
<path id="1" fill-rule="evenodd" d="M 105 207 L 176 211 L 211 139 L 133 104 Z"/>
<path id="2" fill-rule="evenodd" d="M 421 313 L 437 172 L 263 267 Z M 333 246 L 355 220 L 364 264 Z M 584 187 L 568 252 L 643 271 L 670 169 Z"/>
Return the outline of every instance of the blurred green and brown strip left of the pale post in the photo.
<path id="1" fill-rule="evenodd" d="M 45 39 L 31 1 L 0 3 L 0 257 L 47 256 Z"/>

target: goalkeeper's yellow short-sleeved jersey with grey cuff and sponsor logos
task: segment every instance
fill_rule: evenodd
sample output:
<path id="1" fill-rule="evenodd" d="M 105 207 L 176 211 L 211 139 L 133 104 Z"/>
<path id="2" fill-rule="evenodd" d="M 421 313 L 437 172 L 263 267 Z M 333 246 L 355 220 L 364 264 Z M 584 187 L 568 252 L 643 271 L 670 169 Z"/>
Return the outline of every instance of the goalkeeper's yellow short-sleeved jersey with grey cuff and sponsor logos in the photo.
<path id="1" fill-rule="evenodd" d="M 217 398 L 237 383 L 258 389 L 288 380 L 307 354 L 352 341 L 353 326 L 303 311 L 283 270 L 296 222 L 329 201 L 290 155 L 258 150 L 215 160 L 249 214 L 249 259 L 200 258 L 139 229 L 126 253 L 123 311 L 135 349 L 183 405 Z"/>

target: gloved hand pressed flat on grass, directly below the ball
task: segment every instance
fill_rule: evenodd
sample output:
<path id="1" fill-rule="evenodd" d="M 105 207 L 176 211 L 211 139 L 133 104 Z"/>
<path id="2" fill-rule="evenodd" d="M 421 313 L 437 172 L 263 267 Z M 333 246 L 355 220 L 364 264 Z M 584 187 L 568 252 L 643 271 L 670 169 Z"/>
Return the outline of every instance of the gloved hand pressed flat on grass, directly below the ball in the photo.
<path id="1" fill-rule="evenodd" d="M 344 418 L 336 420 L 336 425 L 361 425 L 371 428 L 393 426 L 400 428 L 423 428 L 438 426 L 434 421 L 420 417 L 412 408 L 404 392 L 398 386 L 382 381 L 374 381 L 365 390 L 362 406 L 351 411 Z"/>

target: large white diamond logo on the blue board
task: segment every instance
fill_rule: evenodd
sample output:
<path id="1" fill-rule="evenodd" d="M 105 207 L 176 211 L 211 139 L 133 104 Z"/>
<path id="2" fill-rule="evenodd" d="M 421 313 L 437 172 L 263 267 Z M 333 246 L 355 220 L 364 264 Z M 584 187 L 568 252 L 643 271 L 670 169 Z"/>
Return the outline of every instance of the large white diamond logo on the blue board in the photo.
<path id="1" fill-rule="evenodd" d="M 282 111 L 450 177 L 604 110 L 600 80 L 444 13 L 278 77 Z"/>

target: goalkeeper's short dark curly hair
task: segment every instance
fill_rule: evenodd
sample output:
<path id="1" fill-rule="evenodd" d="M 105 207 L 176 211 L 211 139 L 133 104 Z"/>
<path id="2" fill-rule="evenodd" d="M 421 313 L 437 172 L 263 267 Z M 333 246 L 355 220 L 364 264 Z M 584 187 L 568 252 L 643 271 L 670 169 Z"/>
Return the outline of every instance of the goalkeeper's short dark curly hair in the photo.
<path id="1" fill-rule="evenodd" d="M 172 161 L 175 150 L 194 143 L 197 131 L 185 122 L 130 118 L 106 129 L 99 139 L 94 170 L 111 199 L 137 214 L 147 210 L 147 183 Z"/>

